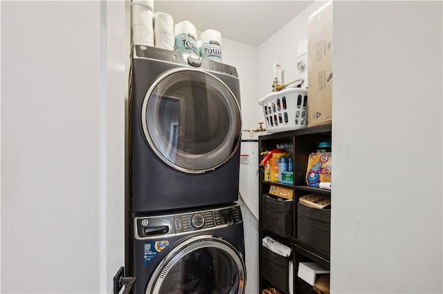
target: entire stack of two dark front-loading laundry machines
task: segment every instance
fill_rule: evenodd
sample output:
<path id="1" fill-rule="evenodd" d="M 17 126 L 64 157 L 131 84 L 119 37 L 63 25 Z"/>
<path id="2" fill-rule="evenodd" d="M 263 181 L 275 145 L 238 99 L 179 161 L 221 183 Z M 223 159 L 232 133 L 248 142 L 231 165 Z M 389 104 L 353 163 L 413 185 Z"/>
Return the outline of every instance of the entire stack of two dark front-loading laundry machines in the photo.
<path id="1" fill-rule="evenodd" d="M 244 293 L 237 70 L 134 46 L 130 81 L 127 260 L 135 293 Z"/>

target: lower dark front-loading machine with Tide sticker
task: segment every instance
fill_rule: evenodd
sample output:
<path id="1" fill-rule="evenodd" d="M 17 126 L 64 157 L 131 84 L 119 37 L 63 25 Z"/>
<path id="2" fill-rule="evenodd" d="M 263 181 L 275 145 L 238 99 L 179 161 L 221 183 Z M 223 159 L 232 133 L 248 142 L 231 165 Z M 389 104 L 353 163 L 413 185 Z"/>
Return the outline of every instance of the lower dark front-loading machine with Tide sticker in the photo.
<path id="1" fill-rule="evenodd" d="M 132 226 L 134 293 L 244 293 L 244 232 L 238 204 L 137 215 Z"/>

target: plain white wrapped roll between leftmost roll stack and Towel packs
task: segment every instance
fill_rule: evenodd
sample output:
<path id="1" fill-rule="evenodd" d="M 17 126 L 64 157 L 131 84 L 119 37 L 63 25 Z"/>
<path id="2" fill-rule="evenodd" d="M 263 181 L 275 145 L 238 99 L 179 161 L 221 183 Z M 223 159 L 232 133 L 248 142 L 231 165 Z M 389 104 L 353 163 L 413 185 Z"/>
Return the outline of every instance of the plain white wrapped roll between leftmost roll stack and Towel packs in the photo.
<path id="1" fill-rule="evenodd" d="M 154 46 L 174 50 L 174 19 L 163 12 L 154 13 Z"/>

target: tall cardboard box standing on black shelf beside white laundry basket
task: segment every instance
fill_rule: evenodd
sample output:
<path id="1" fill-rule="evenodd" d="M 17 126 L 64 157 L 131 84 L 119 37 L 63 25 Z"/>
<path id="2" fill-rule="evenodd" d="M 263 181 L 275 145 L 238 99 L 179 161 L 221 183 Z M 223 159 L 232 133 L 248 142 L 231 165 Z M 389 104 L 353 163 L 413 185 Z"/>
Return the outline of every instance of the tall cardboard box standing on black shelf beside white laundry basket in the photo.
<path id="1" fill-rule="evenodd" d="M 308 126 L 332 123 L 332 1 L 311 14 L 307 32 Z"/>

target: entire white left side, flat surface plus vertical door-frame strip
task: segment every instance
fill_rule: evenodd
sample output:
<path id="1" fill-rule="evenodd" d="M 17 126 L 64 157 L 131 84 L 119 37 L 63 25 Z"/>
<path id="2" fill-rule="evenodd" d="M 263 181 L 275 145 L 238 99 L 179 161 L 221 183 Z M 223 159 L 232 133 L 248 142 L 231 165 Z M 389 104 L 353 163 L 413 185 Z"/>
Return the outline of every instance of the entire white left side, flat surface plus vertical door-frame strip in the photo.
<path id="1" fill-rule="evenodd" d="M 110 293 L 123 265 L 123 5 L 1 2 L 1 293 Z"/>

